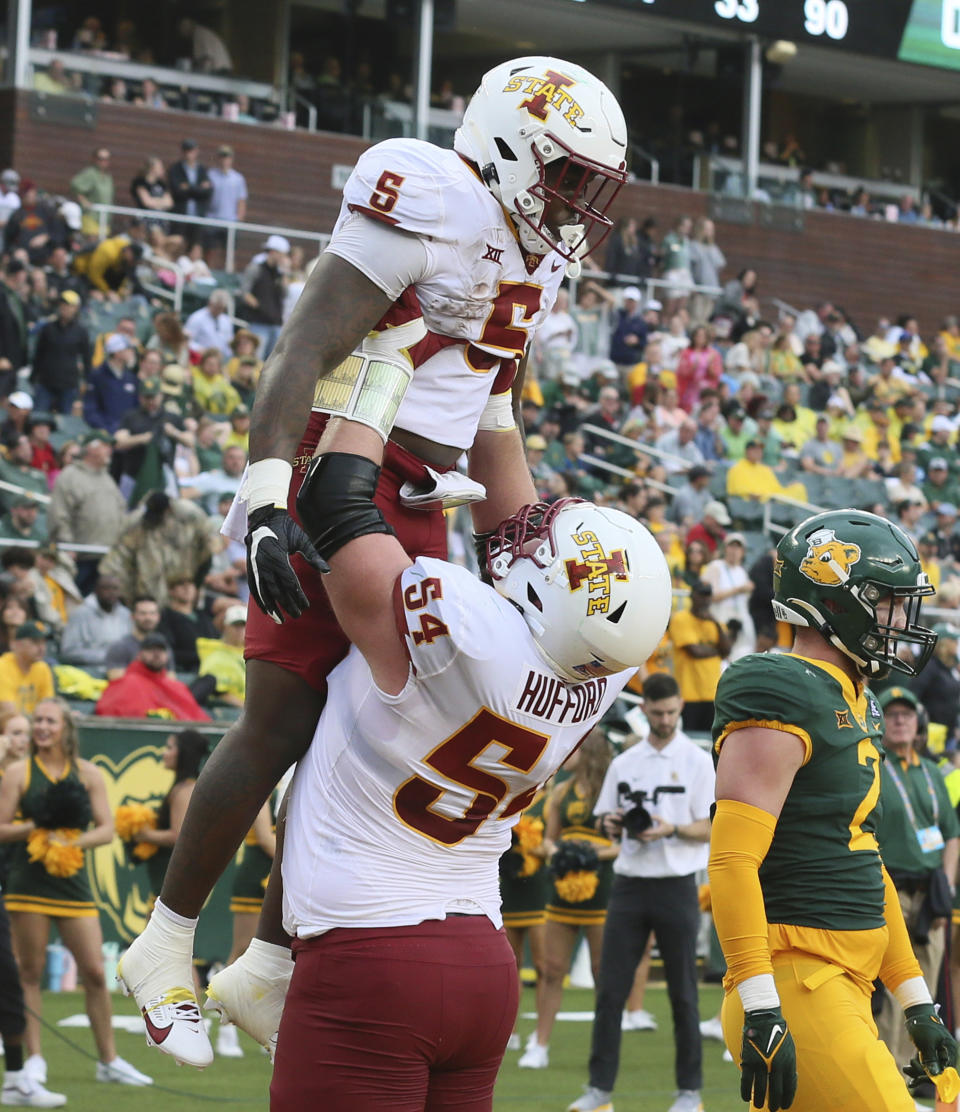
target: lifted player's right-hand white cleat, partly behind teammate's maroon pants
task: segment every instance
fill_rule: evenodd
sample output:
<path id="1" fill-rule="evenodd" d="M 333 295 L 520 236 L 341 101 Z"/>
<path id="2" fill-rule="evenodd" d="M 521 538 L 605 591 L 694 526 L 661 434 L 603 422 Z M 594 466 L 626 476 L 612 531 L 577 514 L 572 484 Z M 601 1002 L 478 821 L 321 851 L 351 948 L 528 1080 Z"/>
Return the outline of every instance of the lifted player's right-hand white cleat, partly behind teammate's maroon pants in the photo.
<path id="1" fill-rule="evenodd" d="M 246 1031 L 267 1049 L 273 1062 L 293 975 L 289 950 L 254 939 L 235 962 L 210 977 L 204 1006 Z"/>

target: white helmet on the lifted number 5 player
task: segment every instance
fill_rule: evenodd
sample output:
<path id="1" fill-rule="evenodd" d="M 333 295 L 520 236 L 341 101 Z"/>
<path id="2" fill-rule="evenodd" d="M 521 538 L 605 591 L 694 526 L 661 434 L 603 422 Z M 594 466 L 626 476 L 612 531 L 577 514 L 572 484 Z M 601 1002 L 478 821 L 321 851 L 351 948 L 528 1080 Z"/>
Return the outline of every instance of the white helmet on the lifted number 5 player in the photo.
<path id="1" fill-rule="evenodd" d="M 606 212 L 626 181 L 626 122 L 614 95 L 582 66 L 515 58 L 484 75 L 454 137 L 513 218 L 524 249 L 571 264 L 612 227 Z M 570 219 L 545 224 L 553 200 Z M 578 267 L 576 267 L 578 270 Z"/>

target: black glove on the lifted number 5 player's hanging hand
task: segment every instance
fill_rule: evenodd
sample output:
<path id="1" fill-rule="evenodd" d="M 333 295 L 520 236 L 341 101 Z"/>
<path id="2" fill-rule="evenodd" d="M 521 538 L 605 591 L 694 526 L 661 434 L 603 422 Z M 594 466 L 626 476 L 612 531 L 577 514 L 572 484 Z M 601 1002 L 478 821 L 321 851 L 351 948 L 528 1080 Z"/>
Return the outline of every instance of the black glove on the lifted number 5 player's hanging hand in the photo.
<path id="1" fill-rule="evenodd" d="M 247 583 L 254 602 L 276 623 L 298 618 L 310 605 L 290 556 L 299 553 L 315 572 L 329 572 L 310 538 L 279 506 L 261 506 L 247 519 Z"/>

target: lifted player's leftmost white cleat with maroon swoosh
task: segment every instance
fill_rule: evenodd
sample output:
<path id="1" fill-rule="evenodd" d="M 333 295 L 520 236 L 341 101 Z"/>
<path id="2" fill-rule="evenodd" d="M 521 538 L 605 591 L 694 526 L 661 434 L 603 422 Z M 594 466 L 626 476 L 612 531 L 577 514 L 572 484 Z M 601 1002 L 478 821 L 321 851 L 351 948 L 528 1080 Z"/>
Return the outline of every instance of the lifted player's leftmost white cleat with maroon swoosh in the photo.
<path id="1" fill-rule="evenodd" d="M 214 1048 L 194 992 L 191 946 L 184 941 L 174 939 L 171 945 L 169 932 L 157 929 L 157 916 L 151 916 L 117 963 L 117 983 L 137 1001 L 147 1045 L 202 1070 L 214 1061 Z"/>

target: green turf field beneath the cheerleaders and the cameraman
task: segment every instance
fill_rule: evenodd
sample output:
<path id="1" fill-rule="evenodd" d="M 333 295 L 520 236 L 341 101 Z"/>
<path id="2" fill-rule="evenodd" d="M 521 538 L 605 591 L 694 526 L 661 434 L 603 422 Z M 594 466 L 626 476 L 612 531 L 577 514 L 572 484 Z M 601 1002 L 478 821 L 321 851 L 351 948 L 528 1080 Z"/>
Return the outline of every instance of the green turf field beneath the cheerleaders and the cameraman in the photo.
<path id="1" fill-rule="evenodd" d="M 720 1004 L 720 989 L 704 985 L 701 990 L 701 1014 L 706 1017 Z M 56 1022 L 66 1015 L 82 1012 L 79 993 L 44 993 L 44 1020 Z M 132 1014 L 129 1000 L 115 996 L 118 1014 Z M 588 1011 L 593 994 L 568 990 L 564 1010 Z M 620 1083 L 615 1094 L 616 1112 L 666 1112 L 673 1098 L 673 1044 L 670 1005 L 662 986 L 651 986 L 647 1007 L 660 1020 L 656 1032 L 626 1032 Z M 522 1012 L 533 1011 L 533 990 L 525 989 Z M 533 1029 L 532 1019 L 522 1019 L 524 1041 Z M 58 1027 L 70 1045 L 52 1032 L 43 1032 L 43 1053 L 49 1066 L 48 1088 L 67 1093 L 71 1112 L 194 1112 L 194 1110 L 266 1109 L 270 1065 L 266 1055 L 245 1035 L 240 1036 L 246 1056 L 238 1060 L 217 1059 L 202 1072 L 178 1068 L 171 1059 L 147 1048 L 142 1035 L 117 1031 L 117 1051 L 138 1069 L 152 1075 L 151 1089 L 128 1089 L 98 1084 L 93 1078 L 92 1039 L 90 1032 L 77 1027 Z M 517 1069 L 516 1052 L 508 1052 L 501 1071 L 494 1108 L 496 1112 L 563 1112 L 580 1094 L 586 1081 L 590 1053 L 588 1022 L 557 1023 L 551 1045 L 547 1070 Z M 721 1061 L 719 1043 L 704 1043 L 704 1108 L 706 1112 L 743 1112 L 738 1098 L 736 1069 Z M 321 1109 L 304 1112 L 323 1112 Z"/>

